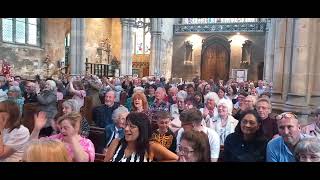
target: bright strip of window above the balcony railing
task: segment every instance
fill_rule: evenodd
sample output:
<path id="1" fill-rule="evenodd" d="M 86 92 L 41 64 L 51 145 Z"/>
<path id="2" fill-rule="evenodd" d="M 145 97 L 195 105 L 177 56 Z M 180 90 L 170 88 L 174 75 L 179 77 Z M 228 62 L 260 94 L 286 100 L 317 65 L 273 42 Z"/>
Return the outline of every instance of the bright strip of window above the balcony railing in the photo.
<path id="1" fill-rule="evenodd" d="M 212 23 L 244 23 L 257 22 L 258 18 L 183 18 L 183 24 L 212 24 Z"/>

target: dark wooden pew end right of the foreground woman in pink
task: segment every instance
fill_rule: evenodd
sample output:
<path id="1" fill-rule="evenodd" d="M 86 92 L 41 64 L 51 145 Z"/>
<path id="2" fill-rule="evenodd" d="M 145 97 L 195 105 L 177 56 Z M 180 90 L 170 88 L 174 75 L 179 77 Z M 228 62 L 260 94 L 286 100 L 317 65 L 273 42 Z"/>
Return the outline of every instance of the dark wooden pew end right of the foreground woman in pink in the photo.
<path id="1" fill-rule="evenodd" d="M 104 128 L 90 126 L 88 138 L 92 141 L 95 148 L 95 152 L 98 154 L 103 154 L 103 149 L 105 148 L 106 143 L 106 135 Z"/>

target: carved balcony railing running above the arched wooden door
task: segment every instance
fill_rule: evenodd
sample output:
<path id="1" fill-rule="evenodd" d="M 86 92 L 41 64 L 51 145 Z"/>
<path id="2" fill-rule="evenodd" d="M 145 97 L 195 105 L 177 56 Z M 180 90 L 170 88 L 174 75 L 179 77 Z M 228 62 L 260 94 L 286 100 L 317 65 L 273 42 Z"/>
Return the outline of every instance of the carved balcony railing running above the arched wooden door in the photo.
<path id="1" fill-rule="evenodd" d="M 266 22 L 214 23 L 214 24 L 176 24 L 174 33 L 212 33 L 212 32 L 265 32 Z"/>

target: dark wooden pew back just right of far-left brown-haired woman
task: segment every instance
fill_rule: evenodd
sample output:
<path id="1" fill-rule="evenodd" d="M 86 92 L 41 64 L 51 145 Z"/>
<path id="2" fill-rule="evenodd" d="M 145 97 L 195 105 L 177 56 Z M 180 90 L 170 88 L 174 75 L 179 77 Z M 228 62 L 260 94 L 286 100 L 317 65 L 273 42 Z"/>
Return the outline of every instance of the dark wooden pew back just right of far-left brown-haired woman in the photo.
<path id="1" fill-rule="evenodd" d="M 34 127 L 34 115 L 40 111 L 38 103 L 27 103 L 23 105 L 22 124 L 29 129 L 30 133 Z"/>

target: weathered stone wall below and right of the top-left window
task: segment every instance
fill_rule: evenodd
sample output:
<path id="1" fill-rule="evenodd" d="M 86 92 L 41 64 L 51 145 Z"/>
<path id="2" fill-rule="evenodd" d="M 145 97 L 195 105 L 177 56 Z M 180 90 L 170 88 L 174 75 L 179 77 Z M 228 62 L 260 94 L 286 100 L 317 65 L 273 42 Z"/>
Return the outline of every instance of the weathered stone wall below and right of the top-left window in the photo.
<path id="1" fill-rule="evenodd" d="M 52 65 L 50 74 L 58 66 L 58 61 L 64 58 L 64 38 L 70 31 L 70 19 L 41 19 L 41 46 L 31 47 L 0 43 L 0 59 L 6 59 L 14 66 L 13 72 L 25 78 L 33 78 L 36 74 L 45 75 L 46 65 L 43 60 L 49 55 Z"/>

